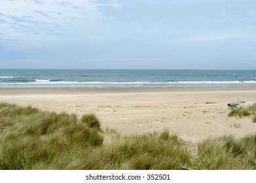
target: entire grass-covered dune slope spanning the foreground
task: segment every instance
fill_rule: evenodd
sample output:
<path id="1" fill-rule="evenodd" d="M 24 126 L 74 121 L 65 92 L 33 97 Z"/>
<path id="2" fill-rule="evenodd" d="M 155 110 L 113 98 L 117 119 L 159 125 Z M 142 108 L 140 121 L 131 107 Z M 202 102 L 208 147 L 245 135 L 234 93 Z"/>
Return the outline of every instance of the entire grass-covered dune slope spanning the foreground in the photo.
<path id="1" fill-rule="evenodd" d="M 256 134 L 196 145 L 168 131 L 123 137 L 94 114 L 0 103 L 0 169 L 256 169 L 255 144 Z"/>

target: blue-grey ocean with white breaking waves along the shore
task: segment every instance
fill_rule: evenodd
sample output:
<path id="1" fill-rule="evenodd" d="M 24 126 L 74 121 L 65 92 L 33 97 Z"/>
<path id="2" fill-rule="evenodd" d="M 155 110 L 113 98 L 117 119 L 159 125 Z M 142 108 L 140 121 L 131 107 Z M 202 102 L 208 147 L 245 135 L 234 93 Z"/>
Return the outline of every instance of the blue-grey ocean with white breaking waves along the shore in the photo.
<path id="1" fill-rule="evenodd" d="M 256 87 L 255 70 L 0 69 L 0 88 Z"/>

